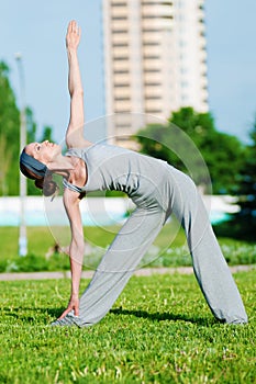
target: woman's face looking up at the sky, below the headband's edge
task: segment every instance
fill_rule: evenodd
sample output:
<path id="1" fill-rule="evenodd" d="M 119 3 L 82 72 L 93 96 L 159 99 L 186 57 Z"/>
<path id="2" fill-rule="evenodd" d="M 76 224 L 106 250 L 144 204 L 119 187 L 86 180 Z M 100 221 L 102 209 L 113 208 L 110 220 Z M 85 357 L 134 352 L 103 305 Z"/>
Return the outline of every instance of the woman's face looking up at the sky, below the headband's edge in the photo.
<path id="1" fill-rule="evenodd" d="M 47 165 L 55 156 L 62 154 L 62 147 L 45 140 L 43 143 L 31 143 L 25 147 L 25 153 L 34 159 Z"/>

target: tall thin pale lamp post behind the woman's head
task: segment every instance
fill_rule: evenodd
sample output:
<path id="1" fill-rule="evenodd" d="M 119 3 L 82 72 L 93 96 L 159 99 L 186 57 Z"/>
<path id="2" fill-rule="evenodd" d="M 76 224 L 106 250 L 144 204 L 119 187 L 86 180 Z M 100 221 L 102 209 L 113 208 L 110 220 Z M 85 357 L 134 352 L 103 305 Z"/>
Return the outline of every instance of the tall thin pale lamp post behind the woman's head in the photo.
<path id="1" fill-rule="evenodd" d="M 15 54 L 18 64 L 19 77 L 20 77 L 20 90 L 21 90 L 21 110 L 20 110 L 20 153 L 26 145 L 26 121 L 25 121 L 25 79 L 22 65 L 22 55 Z M 26 179 L 20 172 L 20 236 L 19 236 L 19 255 L 26 256 L 27 253 L 27 239 L 26 239 L 26 225 L 25 225 L 25 197 L 26 197 Z"/>

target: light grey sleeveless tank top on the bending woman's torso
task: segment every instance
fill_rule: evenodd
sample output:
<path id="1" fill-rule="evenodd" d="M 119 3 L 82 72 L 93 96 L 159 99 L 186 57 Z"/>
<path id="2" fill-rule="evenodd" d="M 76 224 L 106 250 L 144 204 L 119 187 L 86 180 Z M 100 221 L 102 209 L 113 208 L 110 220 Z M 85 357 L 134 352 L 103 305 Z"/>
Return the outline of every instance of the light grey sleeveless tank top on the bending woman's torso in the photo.
<path id="1" fill-rule="evenodd" d="M 136 151 L 108 144 L 71 148 L 66 156 L 81 158 L 87 167 L 82 188 L 63 180 L 64 187 L 79 193 L 122 191 L 136 205 L 145 205 L 167 174 L 167 162 Z M 147 205 L 147 204 L 146 204 Z"/>

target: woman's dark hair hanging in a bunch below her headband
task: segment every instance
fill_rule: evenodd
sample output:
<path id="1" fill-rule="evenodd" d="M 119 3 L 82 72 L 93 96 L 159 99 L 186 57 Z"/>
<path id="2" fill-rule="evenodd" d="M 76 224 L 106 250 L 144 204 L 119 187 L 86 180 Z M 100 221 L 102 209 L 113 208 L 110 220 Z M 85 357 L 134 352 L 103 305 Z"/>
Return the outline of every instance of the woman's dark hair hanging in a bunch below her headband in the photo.
<path id="1" fill-rule="evenodd" d="M 20 170 L 26 178 L 35 181 L 35 187 L 41 189 L 45 196 L 52 196 L 58 191 L 58 185 L 53 180 L 53 174 L 49 171 L 44 177 L 41 177 L 27 169 L 22 162 L 20 162 Z"/>

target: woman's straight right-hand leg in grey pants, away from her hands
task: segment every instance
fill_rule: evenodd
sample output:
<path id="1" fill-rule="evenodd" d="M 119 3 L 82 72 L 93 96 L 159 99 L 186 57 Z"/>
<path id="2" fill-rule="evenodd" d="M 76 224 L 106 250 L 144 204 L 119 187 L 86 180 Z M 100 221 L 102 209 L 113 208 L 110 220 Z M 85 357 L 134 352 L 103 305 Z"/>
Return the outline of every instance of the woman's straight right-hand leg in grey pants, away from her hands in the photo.
<path id="1" fill-rule="evenodd" d="M 171 208 L 185 228 L 194 274 L 213 315 L 230 324 L 247 323 L 240 292 L 196 185 L 179 171 L 174 171 L 171 179 L 176 185 Z"/>

